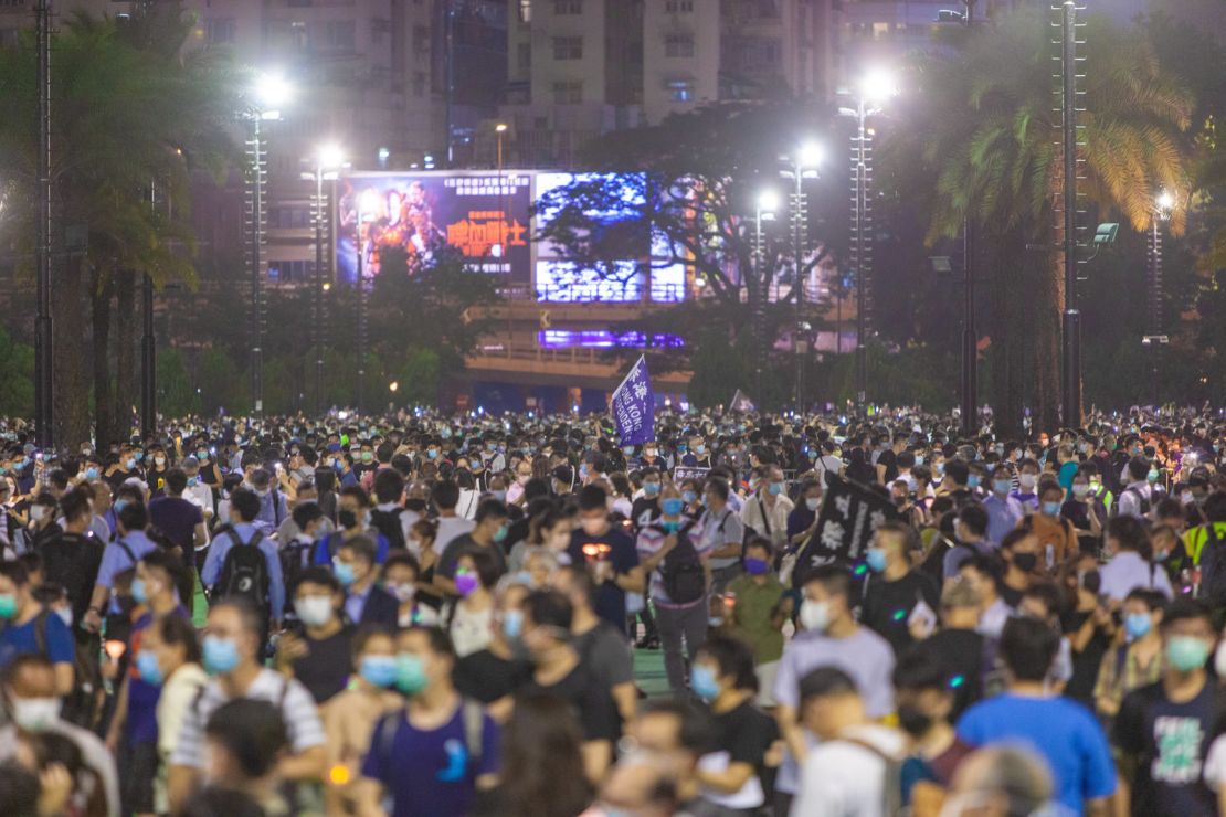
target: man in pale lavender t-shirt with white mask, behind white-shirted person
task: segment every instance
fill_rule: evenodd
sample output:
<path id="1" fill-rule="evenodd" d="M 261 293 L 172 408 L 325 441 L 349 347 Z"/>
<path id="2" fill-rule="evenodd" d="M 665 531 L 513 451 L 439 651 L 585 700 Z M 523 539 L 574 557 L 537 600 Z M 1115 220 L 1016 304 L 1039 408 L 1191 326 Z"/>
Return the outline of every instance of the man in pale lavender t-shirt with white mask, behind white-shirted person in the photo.
<path id="1" fill-rule="evenodd" d="M 857 623 L 851 611 L 852 576 L 846 568 L 824 565 L 804 577 L 804 595 L 798 632 L 783 648 L 779 674 L 772 691 L 775 719 L 787 741 L 790 757 L 780 769 L 776 791 L 776 813 L 787 813 L 787 802 L 799 783 L 798 763 L 809 750 L 798 721 L 799 681 L 819 666 L 846 671 L 863 695 L 869 718 L 884 718 L 894 710 L 894 650 L 888 641 Z M 780 807 L 782 806 L 782 808 Z"/>

